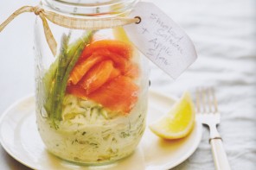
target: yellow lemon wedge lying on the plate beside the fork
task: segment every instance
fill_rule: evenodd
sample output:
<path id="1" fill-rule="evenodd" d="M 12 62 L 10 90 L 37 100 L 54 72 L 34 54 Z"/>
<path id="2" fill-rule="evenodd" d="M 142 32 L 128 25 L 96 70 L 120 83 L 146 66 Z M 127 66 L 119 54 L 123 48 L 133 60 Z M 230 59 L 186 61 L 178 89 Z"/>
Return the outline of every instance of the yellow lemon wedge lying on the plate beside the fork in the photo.
<path id="1" fill-rule="evenodd" d="M 179 139 L 189 135 L 195 123 L 195 108 L 188 91 L 176 101 L 171 110 L 155 123 L 150 130 L 164 139 Z"/>

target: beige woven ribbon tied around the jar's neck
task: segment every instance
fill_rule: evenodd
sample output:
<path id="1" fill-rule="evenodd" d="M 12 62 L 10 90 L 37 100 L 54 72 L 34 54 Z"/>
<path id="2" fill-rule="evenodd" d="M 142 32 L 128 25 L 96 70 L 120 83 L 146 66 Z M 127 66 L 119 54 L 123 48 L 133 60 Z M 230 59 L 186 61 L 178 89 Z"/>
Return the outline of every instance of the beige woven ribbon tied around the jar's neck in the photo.
<path id="1" fill-rule="evenodd" d="M 48 47 L 51 52 L 56 55 L 57 42 L 54 39 L 54 35 L 48 26 L 48 19 L 50 22 L 57 24 L 61 27 L 72 28 L 72 29 L 104 29 L 104 28 L 115 28 L 124 26 L 131 23 L 139 23 L 141 21 L 140 17 L 136 16 L 134 18 L 124 18 L 124 17 L 110 17 L 110 18 L 95 18 L 95 19 L 85 19 L 85 18 L 75 18 L 70 16 L 62 16 L 51 11 L 42 9 L 42 6 L 23 6 L 17 9 L 9 18 L 7 18 L 0 25 L 0 32 L 5 28 L 16 16 L 19 16 L 25 12 L 34 12 L 36 16 L 40 16 L 42 19 L 42 25 L 44 29 L 44 35 L 48 42 Z"/>

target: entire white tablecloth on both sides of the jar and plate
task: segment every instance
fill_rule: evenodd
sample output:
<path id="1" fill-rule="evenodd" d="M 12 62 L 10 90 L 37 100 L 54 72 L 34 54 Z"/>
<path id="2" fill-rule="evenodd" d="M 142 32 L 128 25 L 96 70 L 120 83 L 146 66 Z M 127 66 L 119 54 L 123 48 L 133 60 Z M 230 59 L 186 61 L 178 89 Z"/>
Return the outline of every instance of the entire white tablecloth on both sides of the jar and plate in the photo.
<path id="1" fill-rule="evenodd" d="M 198 60 L 176 81 L 151 65 L 150 88 L 181 96 L 198 86 L 214 86 L 222 114 L 219 130 L 232 169 L 256 169 L 256 1 L 151 2 L 185 29 L 195 42 Z M 18 7 L 36 3 L 1 1 L 0 22 Z M 0 34 L 0 114 L 16 99 L 34 92 L 34 18 L 19 16 Z M 29 169 L 1 147 L 0 153 L 0 169 Z M 174 169 L 214 169 L 207 129 L 195 154 Z"/>

